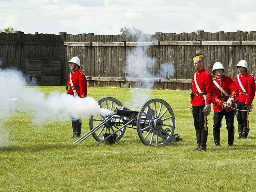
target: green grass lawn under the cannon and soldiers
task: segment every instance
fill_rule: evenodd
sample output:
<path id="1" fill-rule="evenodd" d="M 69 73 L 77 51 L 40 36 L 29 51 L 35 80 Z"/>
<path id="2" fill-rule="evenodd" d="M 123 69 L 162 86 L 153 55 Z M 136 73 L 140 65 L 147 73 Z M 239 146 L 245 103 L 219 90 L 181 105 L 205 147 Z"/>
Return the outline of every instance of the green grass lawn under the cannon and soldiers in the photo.
<path id="1" fill-rule="evenodd" d="M 46 95 L 64 86 L 35 87 Z M 73 145 L 71 121 L 34 122 L 34 111 L 12 112 L 0 119 L 0 191 L 256 191 L 256 112 L 249 115 L 247 139 L 228 147 L 225 121 L 220 146 L 214 147 L 213 112 L 208 116 L 207 151 L 196 147 L 189 111 L 189 91 L 132 90 L 89 87 L 87 96 L 114 97 L 139 111 L 147 100 L 163 99 L 175 115 L 175 132 L 182 141 L 162 147 L 144 145 L 135 129 L 126 129 L 114 145 L 99 146 L 90 136 Z M 135 96 L 134 96 L 135 95 Z M 18 104 L 19 109 L 19 104 Z M 67 114 L 68 117 L 68 114 Z M 89 118 L 82 119 L 82 135 Z"/>

